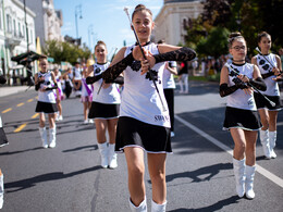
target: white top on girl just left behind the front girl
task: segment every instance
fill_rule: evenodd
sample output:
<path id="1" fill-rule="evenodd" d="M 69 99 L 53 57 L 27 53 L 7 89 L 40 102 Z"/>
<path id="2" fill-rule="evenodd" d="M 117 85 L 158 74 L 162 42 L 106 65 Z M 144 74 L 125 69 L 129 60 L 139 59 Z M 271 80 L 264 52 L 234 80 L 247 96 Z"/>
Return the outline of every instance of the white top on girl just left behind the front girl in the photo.
<path id="1" fill-rule="evenodd" d="M 94 64 L 94 76 L 101 74 L 104 72 L 108 66 L 110 65 L 110 62 L 107 62 L 104 64 Z M 101 86 L 102 78 L 94 83 L 94 95 L 93 95 L 93 101 L 100 102 L 100 103 L 121 103 L 121 97 L 119 92 L 119 85 L 118 84 L 110 84 L 108 88 L 101 87 L 99 93 L 98 90 Z"/>

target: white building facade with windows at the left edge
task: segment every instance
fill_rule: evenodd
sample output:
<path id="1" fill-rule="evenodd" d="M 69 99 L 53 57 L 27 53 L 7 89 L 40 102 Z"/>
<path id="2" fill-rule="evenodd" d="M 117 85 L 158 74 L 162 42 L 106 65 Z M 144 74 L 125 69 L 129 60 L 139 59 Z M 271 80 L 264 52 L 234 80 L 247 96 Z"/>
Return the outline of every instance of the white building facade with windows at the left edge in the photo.
<path id="1" fill-rule="evenodd" d="M 26 11 L 26 12 L 25 12 Z M 20 0 L 0 0 L 0 57 L 1 74 L 11 75 L 16 71 L 23 73 L 11 58 L 27 51 L 35 51 L 35 16 L 36 14 Z"/>

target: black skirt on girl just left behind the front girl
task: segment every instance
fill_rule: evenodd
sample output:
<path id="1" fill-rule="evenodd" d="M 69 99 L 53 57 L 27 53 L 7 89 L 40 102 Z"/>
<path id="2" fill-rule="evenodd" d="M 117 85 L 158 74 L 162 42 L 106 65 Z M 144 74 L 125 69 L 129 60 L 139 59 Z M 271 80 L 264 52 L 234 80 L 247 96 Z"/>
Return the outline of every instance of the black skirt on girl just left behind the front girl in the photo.
<path id="1" fill-rule="evenodd" d="M 91 102 L 88 119 L 111 120 L 119 117 L 120 104 Z"/>

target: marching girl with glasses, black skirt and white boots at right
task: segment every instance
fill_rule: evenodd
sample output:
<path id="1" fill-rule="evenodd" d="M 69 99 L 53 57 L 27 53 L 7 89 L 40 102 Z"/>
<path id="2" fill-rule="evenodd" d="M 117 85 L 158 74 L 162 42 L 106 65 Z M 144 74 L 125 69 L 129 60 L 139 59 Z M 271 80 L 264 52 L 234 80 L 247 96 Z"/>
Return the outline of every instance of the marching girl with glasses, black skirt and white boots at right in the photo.
<path id="1" fill-rule="evenodd" d="M 220 96 L 227 96 L 224 129 L 229 129 L 234 140 L 233 169 L 238 197 L 255 198 L 254 177 L 256 172 L 256 140 L 261 127 L 254 91 L 247 86 L 266 90 L 266 84 L 256 65 L 245 62 L 247 47 L 241 33 L 229 37 L 232 64 L 221 70 Z"/>

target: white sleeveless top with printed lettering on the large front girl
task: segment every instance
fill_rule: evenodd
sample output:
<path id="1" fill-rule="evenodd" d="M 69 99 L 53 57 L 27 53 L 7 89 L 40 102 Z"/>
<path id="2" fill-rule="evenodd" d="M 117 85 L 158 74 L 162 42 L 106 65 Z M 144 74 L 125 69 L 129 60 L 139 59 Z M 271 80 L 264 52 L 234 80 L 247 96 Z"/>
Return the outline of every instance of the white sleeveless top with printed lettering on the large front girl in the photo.
<path id="1" fill-rule="evenodd" d="M 127 47 L 125 57 L 133 51 L 132 47 Z M 144 47 L 152 54 L 158 54 L 156 43 L 149 43 Z M 167 100 L 163 93 L 162 75 L 165 63 L 157 63 L 152 71 L 158 74 L 156 82 L 159 93 L 162 98 L 165 111 L 162 109 L 161 101 L 152 80 L 149 80 L 148 74 L 140 75 L 140 62 L 134 61 L 131 66 L 124 71 L 124 90 L 122 95 L 122 103 L 120 107 L 120 116 L 130 116 L 140 122 L 152 125 L 171 127 Z"/>

